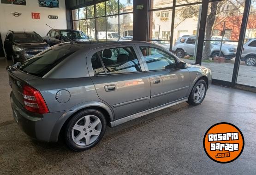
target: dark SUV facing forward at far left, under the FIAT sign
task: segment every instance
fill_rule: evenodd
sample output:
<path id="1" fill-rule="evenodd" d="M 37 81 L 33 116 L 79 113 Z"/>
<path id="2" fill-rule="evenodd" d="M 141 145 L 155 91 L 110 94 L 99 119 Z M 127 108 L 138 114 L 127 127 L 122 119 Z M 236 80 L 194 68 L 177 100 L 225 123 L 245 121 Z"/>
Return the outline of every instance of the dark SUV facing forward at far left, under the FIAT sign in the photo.
<path id="1" fill-rule="evenodd" d="M 44 51 L 49 45 L 34 31 L 16 32 L 8 31 L 4 42 L 6 58 L 12 62 L 25 60 Z"/>

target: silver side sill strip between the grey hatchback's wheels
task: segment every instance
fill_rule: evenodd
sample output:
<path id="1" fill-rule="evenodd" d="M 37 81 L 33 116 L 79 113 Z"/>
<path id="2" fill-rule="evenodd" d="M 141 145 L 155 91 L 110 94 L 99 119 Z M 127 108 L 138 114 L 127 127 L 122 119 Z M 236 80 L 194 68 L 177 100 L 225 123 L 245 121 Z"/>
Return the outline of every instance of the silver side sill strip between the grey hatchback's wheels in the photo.
<path id="1" fill-rule="evenodd" d="M 154 112 L 159 111 L 161 109 L 164 109 L 164 108 L 167 108 L 167 107 L 171 107 L 171 106 L 174 106 L 174 105 L 177 105 L 179 103 L 186 102 L 186 101 L 188 101 L 188 97 L 182 98 L 180 100 L 176 100 L 174 102 L 169 102 L 167 104 L 164 104 L 164 105 L 161 105 L 161 106 L 158 106 L 158 107 L 153 107 L 153 108 L 148 109 L 148 110 L 143 111 L 143 112 L 132 114 L 132 115 L 124 117 L 122 119 L 118 119 L 118 120 L 115 120 L 113 122 L 110 122 L 110 124 L 111 124 L 111 127 L 114 127 L 114 126 L 117 126 L 119 124 L 123 124 L 125 122 L 128 122 L 130 120 L 137 119 L 137 118 L 139 118 L 141 116 L 144 116 L 144 115 L 147 115 L 149 113 L 154 113 Z"/>

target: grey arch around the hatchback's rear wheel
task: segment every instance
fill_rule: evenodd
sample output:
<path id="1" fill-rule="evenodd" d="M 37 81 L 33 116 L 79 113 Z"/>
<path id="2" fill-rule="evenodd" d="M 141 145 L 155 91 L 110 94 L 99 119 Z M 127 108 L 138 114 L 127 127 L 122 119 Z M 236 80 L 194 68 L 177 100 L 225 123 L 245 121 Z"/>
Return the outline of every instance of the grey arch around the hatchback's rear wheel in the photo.
<path id="1" fill-rule="evenodd" d="M 53 142 L 58 141 L 60 137 L 63 136 L 65 127 L 68 124 L 68 122 L 72 119 L 72 117 L 77 113 L 79 113 L 80 111 L 83 111 L 86 109 L 96 109 L 101 113 L 103 113 L 107 121 L 107 125 L 111 126 L 111 122 L 114 120 L 114 116 L 113 116 L 113 111 L 110 109 L 110 107 L 108 107 L 106 104 L 102 102 L 84 102 L 72 107 L 70 110 L 65 112 L 60 117 L 60 119 L 54 125 L 54 129 L 51 133 L 50 141 L 53 141 Z"/>

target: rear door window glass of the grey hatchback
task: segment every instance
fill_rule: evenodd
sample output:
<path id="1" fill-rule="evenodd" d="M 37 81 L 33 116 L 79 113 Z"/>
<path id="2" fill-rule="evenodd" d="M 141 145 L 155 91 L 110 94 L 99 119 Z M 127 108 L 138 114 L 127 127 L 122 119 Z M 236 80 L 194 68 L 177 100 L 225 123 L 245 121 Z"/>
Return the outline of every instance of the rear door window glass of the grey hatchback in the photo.
<path id="1" fill-rule="evenodd" d="M 105 71 L 101 60 L 104 64 Z M 140 64 L 132 47 L 119 47 L 98 51 L 92 57 L 94 74 L 116 74 L 140 72 Z"/>

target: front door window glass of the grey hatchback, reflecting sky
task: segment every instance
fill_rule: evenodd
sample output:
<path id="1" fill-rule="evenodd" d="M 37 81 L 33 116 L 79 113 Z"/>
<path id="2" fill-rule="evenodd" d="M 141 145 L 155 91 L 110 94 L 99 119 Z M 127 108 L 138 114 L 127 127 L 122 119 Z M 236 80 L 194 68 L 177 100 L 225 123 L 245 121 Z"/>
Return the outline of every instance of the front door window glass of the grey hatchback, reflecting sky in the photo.
<path id="1" fill-rule="evenodd" d="M 149 71 L 176 68 L 175 59 L 164 51 L 152 47 L 140 47 Z"/>

